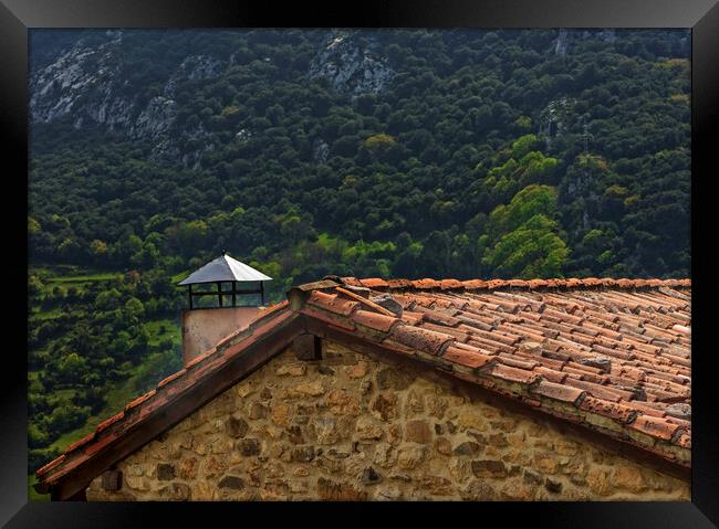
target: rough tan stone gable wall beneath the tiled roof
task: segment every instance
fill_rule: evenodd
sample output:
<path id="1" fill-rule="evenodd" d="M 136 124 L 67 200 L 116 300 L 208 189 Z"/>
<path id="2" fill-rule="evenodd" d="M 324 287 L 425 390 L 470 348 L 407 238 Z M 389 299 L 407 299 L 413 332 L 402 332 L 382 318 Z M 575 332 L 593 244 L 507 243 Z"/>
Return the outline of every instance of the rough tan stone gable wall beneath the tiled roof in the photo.
<path id="1" fill-rule="evenodd" d="M 689 484 L 335 343 L 292 349 L 96 478 L 88 500 L 688 500 Z"/>

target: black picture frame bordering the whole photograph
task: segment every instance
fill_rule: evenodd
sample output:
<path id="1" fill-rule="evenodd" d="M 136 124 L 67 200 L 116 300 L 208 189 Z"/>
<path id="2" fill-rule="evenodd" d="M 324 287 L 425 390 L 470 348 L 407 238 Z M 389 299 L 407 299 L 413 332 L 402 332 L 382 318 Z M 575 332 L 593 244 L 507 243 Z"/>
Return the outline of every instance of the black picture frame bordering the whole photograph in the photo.
<path id="1" fill-rule="evenodd" d="M 710 283 L 719 260 L 712 256 L 711 161 L 719 124 L 719 6 L 715 0 L 415 0 L 399 4 L 369 1 L 351 6 L 335 2 L 290 3 L 202 0 L 2 0 L 0 3 L 0 116 L 4 133 L 4 163 L 14 165 L 3 182 L 14 180 L 19 193 L 8 192 L 2 208 L 8 251 L 3 279 L 12 292 L 6 296 L 6 336 L 18 347 L 4 351 L 0 385 L 2 427 L 0 436 L 0 522 L 7 527 L 134 527 L 150 525 L 160 514 L 163 525 L 188 522 L 199 515 L 205 522 L 252 522 L 274 520 L 280 512 L 290 517 L 314 511 L 312 523 L 363 525 L 388 518 L 385 504 L 321 505 L 285 504 L 77 504 L 29 502 L 27 487 L 27 271 L 18 261 L 27 255 L 28 173 L 28 29 L 30 28 L 251 28 L 251 27 L 353 27 L 353 28 L 691 28 L 691 279 L 694 283 L 694 425 L 691 502 L 527 502 L 413 504 L 393 510 L 445 523 L 492 523 L 502 526 L 519 517 L 553 527 L 711 527 L 719 526 L 719 433 L 711 369 Z M 713 134 L 712 134 L 713 133 Z M 712 156 L 713 155 L 713 156 Z M 12 163 L 14 162 L 14 163 Z M 12 176 L 12 177 L 11 177 Z M 716 177 L 715 177 L 716 178 Z M 24 198 L 18 198 L 18 194 Z M 716 273 L 716 272 L 715 272 Z M 18 301 L 18 299 L 23 301 Z M 23 305 L 25 304 L 25 305 Z M 18 307 L 25 307 L 25 313 Z M 25 326 L 22 319 L 25 318 Z M 17 320 L 17 321 L 15 321 Z M 14 343 L 14 339 L 12 342 Z M 24 348 L 23 348 L 24 345 Z M 707 345 L 705 347 L 705 345 Z M 704 352 L 704 355 L 702 355 Z M 404 507 L 404 508 L 403 508 Z M 211 509 L 211 511 L 209 510 Z M 219 510 L 218 510 L 219 509 Z M 230 512 L 231 510 L 232 512 Z M 404 512 L 408 511 L 408 512 Z M 232 518 L 240 515 L 241 518 Z M 316 516 L 320 515 L 320 516 Z M 228 518 L 229 516 L 229 518 Z M 171 521 L 170 521 L 171 520 Z M 404 521 L 402 521 L 404 523 Z M 155 525 L 155 522 L 152 522 Z M 183 523 L 183 526 L 188 523 Z"/>

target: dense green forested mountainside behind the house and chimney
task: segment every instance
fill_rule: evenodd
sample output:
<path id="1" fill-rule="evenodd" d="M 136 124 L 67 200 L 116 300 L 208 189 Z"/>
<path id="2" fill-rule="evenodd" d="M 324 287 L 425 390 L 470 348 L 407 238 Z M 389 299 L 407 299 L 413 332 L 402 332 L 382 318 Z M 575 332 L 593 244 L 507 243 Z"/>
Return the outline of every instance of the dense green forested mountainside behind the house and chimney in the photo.
<path id="1" fill-rule="evenodd" d="M 689 45 L 31 32 L 31 469 L 112 388 L 177 369 L 157 322 L 177 332 L 174 283 L 223 250 L 273 277 L 275 301 L 327 274 L 688 276 Z"/>

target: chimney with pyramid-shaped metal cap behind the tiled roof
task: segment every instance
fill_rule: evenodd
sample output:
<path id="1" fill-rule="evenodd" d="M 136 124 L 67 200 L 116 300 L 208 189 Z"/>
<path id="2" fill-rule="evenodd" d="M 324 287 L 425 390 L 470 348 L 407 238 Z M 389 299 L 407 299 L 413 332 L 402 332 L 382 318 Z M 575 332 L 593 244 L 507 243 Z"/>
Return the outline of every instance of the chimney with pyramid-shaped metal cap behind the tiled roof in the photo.
<path id="1" fill-rule="evenodd" d="M 178 283 L 187 286 L 189 301 L 183 310 L 183 364 L 256 319 L 265 308 L 268 281 L 272 278 L 222 252 Z"/>

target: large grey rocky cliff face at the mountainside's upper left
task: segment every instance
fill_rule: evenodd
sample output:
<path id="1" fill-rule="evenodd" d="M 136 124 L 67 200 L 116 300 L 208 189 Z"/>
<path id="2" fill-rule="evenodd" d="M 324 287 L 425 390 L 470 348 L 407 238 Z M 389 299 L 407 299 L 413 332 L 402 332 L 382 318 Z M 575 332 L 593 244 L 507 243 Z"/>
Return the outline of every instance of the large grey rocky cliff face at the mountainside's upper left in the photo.
<path id="1" fill-rule="evenodd" d="M 207 138 L 200 126 L 191 130 L 173 130 L 178 104 L 176 86 L 185 80 L 218 76 L 221 61 L 207 55 L 190 55 L 165 82 L 163 95 L 147 103 L 128 95 L 121 67 L 122 31 L 107 32 L 107 42 L 86 45 L 80 40 L 54 61 L 33 72 L 30 80 L 30 118 L 33 123 L 49 123 L 65 115 L 73 118 L 75 128 L 87 121 L 103 124 L 108 130 L 135 140 L 152 141 L 152 157 L 156 160 L 198 166 L 202 151 L 211 141 L 194 152 L 181 154 L 178 137 Z"/>

